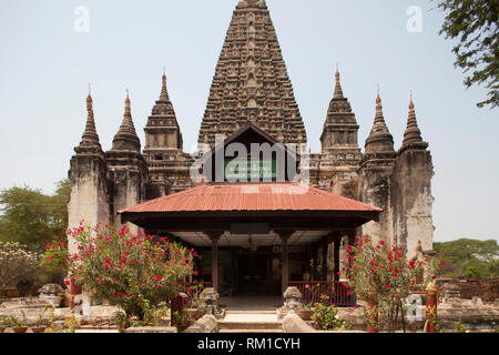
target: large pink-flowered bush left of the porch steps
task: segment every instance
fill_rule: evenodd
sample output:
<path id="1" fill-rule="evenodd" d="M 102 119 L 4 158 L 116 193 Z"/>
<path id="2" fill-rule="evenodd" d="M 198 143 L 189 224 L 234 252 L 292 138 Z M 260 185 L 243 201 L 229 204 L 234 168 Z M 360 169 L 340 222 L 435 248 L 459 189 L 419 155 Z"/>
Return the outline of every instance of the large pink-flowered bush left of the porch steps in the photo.
<path id="1" fill-rule="evenodd" d="M 80 224 L 69 233 L 78 243 L 78 253 L 69 256 L 71 282 L 119 305 L 128 317 L 144 321 L 176 294 L 180 280 L 192 274 L 194 250 L 164 237 L 156 241 L 112 225 Z"/>

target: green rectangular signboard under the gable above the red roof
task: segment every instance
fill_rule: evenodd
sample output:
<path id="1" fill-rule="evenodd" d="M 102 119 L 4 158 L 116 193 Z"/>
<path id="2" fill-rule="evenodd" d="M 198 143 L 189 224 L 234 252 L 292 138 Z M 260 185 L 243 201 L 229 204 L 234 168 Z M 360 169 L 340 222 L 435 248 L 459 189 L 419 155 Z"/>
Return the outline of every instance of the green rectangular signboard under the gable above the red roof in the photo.
<path id="1" fill-rule="evenodd" d="M 277 161 L 274 160 L 225 160 L 224 178 L 228 181 L 275 180 L 278 176 Z"/>

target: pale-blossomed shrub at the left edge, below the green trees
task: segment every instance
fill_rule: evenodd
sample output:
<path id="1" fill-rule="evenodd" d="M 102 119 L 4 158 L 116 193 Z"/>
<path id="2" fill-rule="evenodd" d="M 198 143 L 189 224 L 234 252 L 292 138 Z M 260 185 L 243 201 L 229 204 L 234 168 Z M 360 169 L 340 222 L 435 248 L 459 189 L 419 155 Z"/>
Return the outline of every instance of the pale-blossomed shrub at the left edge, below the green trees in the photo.
<path id="1" fill-rule="evenodd" d="M 37 253 L 18 242 L 0 242 L 0 290 L 31 273 L 38 266 Z"/>

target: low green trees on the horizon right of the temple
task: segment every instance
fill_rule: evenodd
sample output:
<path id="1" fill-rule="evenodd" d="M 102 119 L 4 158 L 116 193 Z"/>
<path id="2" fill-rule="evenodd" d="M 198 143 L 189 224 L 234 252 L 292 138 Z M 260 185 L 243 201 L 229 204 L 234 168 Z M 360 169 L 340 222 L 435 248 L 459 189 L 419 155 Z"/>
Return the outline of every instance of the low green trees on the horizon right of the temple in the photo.
<path id="1" fill-rule="evenodd" d="M 435 242 L 434 250 L 447 261 L 440 268 L 440 276 L 499 276 L 499 245 L 496 240 Z"/>

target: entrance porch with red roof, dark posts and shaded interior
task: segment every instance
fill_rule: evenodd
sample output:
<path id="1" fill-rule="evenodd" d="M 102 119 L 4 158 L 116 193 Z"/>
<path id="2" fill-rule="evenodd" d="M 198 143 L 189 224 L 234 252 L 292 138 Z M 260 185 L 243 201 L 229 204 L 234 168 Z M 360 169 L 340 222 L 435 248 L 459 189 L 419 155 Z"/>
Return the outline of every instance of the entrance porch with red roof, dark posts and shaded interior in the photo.
<path id="1" fill-rule="evenodd" d="M 222 297 L 320 294 L 349 304 L 338 280 L 343 241 L 381 210 L 298 183 L 210 183 L 121 212 L 122 222 L 198 251 L 197 274 Z M 329 261 L 333 260 L 333 263 Z M 255 298 L 256 300 L 256 298 Z M 339 305 L 339 304 L 338 304 Z"/>

